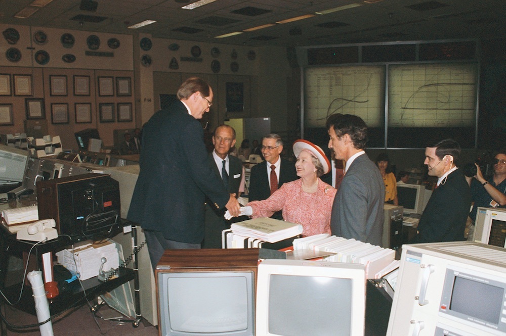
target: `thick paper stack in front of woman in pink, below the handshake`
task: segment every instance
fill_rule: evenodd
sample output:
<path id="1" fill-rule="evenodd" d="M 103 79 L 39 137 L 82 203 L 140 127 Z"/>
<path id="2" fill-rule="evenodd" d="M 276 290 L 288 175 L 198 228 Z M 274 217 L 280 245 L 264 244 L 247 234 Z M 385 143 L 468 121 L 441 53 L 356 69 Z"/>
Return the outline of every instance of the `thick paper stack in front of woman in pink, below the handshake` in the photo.
<path id="1" fill-rule="evenodd" d="M 255 218 L 233 223 L 234 234 L 276 243 L 302 233 L 302 225 L 272 218 Z"/>

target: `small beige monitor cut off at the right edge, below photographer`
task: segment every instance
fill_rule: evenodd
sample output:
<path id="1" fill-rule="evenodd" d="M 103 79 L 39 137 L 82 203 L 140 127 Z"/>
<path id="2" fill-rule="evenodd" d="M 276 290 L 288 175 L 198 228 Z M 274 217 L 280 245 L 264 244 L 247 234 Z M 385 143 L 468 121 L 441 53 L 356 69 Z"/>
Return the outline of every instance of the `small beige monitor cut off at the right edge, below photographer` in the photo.
<path id="1" fill-rule="evenodd" d="M 478 207 L 473 241 L 506 248 L 506 209 Z"/>

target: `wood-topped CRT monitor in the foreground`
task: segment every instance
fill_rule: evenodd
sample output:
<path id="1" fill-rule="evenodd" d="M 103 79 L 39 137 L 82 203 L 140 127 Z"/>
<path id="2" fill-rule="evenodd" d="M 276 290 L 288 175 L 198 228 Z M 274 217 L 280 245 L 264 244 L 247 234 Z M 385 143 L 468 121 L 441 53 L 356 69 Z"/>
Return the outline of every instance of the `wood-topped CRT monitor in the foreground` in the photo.
<path id="1" fill-rule="evenodd" d="M 160 336 L 255 336 L 258 250 L 166 250 L 155 270 Z"/>

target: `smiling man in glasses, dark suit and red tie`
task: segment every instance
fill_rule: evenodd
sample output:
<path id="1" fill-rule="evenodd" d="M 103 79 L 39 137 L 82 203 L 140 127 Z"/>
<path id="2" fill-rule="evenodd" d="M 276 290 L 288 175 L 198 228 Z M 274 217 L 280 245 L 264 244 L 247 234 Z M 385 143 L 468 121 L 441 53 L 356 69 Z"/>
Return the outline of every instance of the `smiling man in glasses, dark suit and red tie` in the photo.
<path id="1" fill-rule="evenodd" d="M 278 134 L 269 134 L 262 139 L 262 154 L 265 161 L 251 168 L 249 202 L 268 199 L 283 183 L 299 178 L 295 164 L 279 156 L 282 151 L 283 140 Z M 281 211 L 276 212 L 271 218 L 283 219 Z"/>

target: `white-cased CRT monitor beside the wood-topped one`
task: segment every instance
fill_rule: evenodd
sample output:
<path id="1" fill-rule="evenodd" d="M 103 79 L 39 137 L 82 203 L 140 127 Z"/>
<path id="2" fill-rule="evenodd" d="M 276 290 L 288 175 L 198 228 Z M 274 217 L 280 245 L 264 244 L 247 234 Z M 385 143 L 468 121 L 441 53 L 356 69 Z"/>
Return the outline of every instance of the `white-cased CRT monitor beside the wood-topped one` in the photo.
<path id="1" fill-rule="evenodd" d="M 303 260 L 261 262 L 257 336 L 363 336 L 364 267 Z"/>

